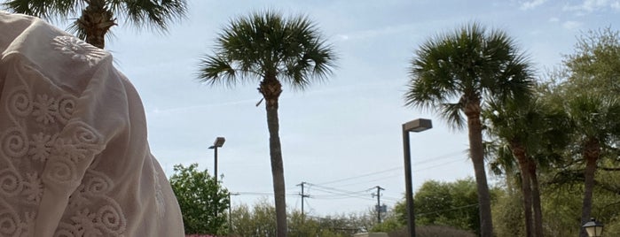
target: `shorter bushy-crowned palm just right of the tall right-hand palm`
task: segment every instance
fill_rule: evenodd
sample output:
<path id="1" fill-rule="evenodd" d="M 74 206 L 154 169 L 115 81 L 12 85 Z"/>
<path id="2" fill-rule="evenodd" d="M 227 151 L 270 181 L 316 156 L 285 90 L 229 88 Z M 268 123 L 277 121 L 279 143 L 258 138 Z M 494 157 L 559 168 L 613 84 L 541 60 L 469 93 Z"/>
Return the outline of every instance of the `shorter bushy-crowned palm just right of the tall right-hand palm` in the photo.
<path id="1" fill-rule="evenodd" d="M 496 146 L 500 148 L 494 154 L 494 163 L 503 166 L 506 173 L 518 167 L 526 236 L 543 236 L 538 164 L 552 164 L 558 157 L 555 151 L 566 147 L 565 113 L 537 98 L 528 102 L 488 104 L 483 118 L 490 122 L 487 132 L 498 139 Z"/>

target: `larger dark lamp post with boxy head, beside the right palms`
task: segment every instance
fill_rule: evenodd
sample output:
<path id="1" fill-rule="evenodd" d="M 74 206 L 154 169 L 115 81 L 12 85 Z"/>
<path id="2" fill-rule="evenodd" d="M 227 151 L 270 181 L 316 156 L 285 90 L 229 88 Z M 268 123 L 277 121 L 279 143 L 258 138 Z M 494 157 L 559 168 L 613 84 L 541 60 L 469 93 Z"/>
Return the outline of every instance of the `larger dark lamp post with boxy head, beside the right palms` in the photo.
<path id="1" fill-rule="evenodd" d="M 432 127 L 433 123 L 430 119 L 415 119 L 403 124 L 404 195 L 407 205 L 407 231 L 411 237 L 415 237 L 415 215 L 413 212 L 412 153 L 409 133 L 420 133 Z"/>

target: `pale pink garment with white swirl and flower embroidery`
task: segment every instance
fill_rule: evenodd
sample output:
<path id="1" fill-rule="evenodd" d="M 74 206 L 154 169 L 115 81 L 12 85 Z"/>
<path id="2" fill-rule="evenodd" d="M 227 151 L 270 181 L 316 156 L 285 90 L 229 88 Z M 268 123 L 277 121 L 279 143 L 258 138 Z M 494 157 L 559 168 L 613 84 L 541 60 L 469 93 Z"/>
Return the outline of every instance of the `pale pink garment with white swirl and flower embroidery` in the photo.
<path id="1" fill-rule="evenodd" d="M 184 236 L 112 56 L 0 11 L 0 236 Z"/>

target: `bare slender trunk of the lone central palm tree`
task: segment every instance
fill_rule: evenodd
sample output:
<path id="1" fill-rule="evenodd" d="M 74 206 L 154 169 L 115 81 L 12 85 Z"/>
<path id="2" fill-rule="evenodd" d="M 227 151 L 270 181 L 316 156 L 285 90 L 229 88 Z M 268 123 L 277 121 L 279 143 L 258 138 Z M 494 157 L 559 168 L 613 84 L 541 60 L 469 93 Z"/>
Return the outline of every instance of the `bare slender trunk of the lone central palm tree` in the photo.
<path id="1" fill-rule="evenodd" d="M 278 118 L 279 95 L 282 93 L 282 85 L 275 77 L 266 77 L 261 82 L 259 91 L 263 94 L 265 109 L 267 111 L 271 176 L 273 179 L 273 193 L 276 203 L 276 236 L 286 237 L 286 190 Z"/>

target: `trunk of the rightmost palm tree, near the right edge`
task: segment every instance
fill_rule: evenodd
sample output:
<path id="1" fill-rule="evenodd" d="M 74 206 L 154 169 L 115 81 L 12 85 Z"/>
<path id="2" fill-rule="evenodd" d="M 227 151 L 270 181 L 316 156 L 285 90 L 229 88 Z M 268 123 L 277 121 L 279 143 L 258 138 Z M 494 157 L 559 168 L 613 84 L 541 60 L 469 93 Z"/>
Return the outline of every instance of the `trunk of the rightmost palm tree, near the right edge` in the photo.
<path id="1" fill-rule="evenodd" d="M 596 161 L 599 159 L 600 146 L 599 141 L 591 139 L 585 143 L 585 171 L 584 171 L 584 204 L 581 209 L 581 225 L 590 220 L 592 215 L 593 189 L 594 189 L 594 173 L 596 172 Z M 581 228 L 581 237 L 587 237 L 585 229 Z"/>

